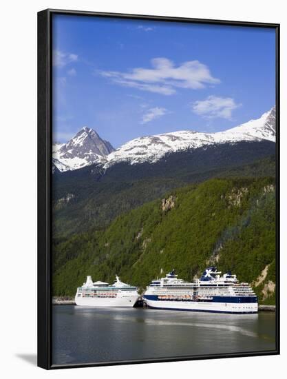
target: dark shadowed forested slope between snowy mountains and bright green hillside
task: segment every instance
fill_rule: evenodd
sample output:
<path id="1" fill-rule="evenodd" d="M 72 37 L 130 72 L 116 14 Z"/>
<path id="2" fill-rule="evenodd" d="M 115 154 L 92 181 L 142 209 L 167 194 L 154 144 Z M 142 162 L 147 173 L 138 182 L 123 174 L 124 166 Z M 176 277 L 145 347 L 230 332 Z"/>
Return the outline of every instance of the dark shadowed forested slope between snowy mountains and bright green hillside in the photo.
<path id="1" fill-rule="evenodd" d="M 171 189 L 219 176 L 274 176 L 275 143 L 242 142 L 164 156 L 157 163 L 118 163 L 55 174 L 54 238 L 103 229 L 119 214 Z"/>

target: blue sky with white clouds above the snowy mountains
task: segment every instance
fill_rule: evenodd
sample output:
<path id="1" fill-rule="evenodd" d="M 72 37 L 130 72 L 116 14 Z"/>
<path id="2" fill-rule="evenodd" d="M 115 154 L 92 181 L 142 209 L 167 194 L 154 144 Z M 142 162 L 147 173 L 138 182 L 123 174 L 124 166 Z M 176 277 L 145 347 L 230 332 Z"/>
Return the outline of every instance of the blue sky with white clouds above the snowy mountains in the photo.
<path id="1" fill-rule="evenodd" d="M 217 132 L 275 104 L 275 30 L 53 16 L 54 141 Z"/>

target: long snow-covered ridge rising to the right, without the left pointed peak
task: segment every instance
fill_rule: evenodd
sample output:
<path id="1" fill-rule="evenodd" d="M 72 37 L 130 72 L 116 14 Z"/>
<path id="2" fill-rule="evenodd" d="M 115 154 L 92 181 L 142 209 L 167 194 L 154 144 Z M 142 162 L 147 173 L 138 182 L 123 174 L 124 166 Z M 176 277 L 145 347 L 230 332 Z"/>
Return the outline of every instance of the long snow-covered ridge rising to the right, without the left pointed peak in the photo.
<path id="1" fill-rule="evenodd" d="M 107 163 L 104 167 L 107 168 L 119 162 L 129 162 L 131 165 L 143 162 L 155 163 L 165 154 L 194 150 L 207 145 L 262 140 L 275 142 L 275 120 L 276 111 L 273 107 L 259 119 L 248 121 L 224 132 L 202 133 L 182 130 L 140 137 L 111 152 L 106 157 Z"/>

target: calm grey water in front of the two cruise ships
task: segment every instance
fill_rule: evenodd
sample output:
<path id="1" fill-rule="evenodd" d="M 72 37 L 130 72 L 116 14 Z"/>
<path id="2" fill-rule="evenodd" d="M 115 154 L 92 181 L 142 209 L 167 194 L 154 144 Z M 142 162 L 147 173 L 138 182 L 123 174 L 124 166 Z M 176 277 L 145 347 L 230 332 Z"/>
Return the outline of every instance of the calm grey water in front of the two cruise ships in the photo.
<path id="1" fill-rule="evenodd" d="M 53 307 L 53 363 L 275 349 L 275 314 Z"/>

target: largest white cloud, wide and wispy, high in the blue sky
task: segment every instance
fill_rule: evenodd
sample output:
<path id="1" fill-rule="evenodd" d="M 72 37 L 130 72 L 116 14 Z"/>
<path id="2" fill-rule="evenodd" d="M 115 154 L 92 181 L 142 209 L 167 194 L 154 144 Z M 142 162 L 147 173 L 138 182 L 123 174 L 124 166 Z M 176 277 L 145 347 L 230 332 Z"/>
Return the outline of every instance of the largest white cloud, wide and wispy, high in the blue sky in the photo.
<path id="1" fill-rule="evenodd" d="M 151 59 L 151 66 L 134 68 L 131 72 L 102 71 L 100 74 L 126 87 L 164 95 L 176 93 L 176 88 L 197 90 L 206 84 L 220 83 L 199 61 L 187 61 L 176 67 L 167 58 L 154 58 Z"/>

